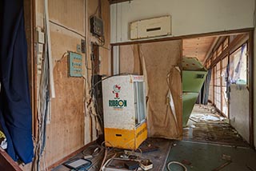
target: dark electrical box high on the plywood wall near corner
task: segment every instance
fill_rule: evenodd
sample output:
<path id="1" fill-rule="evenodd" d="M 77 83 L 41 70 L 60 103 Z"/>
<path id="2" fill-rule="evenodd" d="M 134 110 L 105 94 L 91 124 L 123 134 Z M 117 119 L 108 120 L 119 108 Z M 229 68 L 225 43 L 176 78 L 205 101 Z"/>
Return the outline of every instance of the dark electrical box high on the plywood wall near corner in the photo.
<path id="1" fill-rule="evenodd" d="M 98 37 L 104 35 L 103 21 L 101 18 L 97 18 L 96 16 L 90 18 L 90 33 Z"/>

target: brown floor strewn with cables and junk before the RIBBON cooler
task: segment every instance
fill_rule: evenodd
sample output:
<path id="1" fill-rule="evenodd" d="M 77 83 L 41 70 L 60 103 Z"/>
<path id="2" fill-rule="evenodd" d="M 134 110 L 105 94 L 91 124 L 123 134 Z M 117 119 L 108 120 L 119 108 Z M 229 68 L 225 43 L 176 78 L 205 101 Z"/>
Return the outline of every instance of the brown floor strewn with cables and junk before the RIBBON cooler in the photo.
<path id="1" fill-rule="evenodd" d="M 171 146 L 172 141 L 162 138 L 148 138 L 137 150 L 106 148 L 94 144 L 53 170 L 162 170 Z M 88 167 L 83 165 L 85 161 L 90 161 L 90 168 L 85 169 Z"/>

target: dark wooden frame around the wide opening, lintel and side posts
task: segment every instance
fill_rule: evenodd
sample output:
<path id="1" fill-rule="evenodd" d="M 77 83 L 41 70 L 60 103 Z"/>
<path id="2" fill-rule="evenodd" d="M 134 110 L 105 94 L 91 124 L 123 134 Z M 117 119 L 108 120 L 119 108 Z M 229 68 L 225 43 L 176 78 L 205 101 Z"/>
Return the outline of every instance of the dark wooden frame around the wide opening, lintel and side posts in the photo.
<path id="1" fill-rule="evenodd" d="M 185 38 L 200 38 L 206 36 L 225 36 L 230 34 L 249 34 L 249 130 L 250 130 L 250 146 L 251 148 L 254 147 L 254 28 L 246 28 L 241 30 L 227 30 L 227 31 L 218 31 L 218 32 L 211 32 L 206 34 L 190 34 L 184 36 L 177 36 L 177 37 L 169 37 L 169 38 L 158 38 L 158 39 L 150 39 L 150 40 L 139 40 L 134 42 L 117 42 L 111 43 L 111 74 L 114 73 L 114 46 L 126 46 L 126 45 L 134 45 L 134 44 L 141 44 L 141 43 L 150 43 L 150 42 L 166 42 L 178 39 L 185 39 Z"/>

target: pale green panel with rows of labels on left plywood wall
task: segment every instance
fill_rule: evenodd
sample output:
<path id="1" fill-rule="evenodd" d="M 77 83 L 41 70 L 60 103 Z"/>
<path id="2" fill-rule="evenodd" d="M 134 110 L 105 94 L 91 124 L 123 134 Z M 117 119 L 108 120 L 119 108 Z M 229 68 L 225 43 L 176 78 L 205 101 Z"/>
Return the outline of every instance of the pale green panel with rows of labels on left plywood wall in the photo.
<path id="1" fill-rule="evenodd" d="M 69 52 L 70 77 L 82 77 L 82 55 Z"/>

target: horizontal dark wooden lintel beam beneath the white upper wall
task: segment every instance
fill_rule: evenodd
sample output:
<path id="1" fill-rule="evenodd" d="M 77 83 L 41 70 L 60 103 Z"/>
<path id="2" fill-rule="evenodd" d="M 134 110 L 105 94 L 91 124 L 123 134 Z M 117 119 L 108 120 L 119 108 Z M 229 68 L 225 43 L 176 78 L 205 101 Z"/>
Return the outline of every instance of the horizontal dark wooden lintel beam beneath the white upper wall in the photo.
<path id="1" fill-rule="evenodd" d="M 190 34 L 184 36 L 175 36 L 175 37 L 168 37 L 168 38 L 158 38 L 158 39 L 150 39 L 150 40 L 140 40 L 140 41 L 133 41 L 133 42 L 117 42 L 117 43 L 110 43 L 111 46 L 124 46 L 124 45 L 133 45 L 139 43 L 150 43 L 150 42 L 165 42 L 165 41 L 172 41 L 172 40 L 179 40 L 184 38 L 198 38 L 198 37 L 206 37 L 206 36 L 216 36 L 216 35 L 230 35 L 230 34 L 242 34 L 248 33 L 253 31 L 254 28 L 246 28 L 240 30 L 228 30 L 228 31 L 217 31 L 211 32 L 206 34 Z"/>

